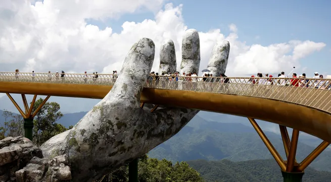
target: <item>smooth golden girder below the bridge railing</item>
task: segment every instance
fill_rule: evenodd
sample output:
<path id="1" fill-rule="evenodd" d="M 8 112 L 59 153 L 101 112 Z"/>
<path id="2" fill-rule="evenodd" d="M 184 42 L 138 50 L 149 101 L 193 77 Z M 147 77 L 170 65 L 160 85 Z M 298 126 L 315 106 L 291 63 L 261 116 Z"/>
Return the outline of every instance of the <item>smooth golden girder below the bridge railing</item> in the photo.
<path id="1" fill-rule="evenodd" d="M 2 82 L 0 92 L 102 99 L 112 86 Z M 184 90 L 144 88 L 141 102 L 226 113 L 265 120 L 331 142 L 331 115 L 279 100 Z"/>

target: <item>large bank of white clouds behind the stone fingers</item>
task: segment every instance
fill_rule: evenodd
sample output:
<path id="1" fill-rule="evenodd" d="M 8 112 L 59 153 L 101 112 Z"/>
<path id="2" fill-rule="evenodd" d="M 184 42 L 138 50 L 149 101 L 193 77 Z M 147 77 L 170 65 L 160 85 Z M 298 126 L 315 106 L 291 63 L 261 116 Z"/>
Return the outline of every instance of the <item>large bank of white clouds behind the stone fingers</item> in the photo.
<path id="1" fill-rule="evenodd" d="M 0 69 L 112 73 L 121 69 L 128 50 L 142 37 L 151 38 L 156 44 L 154 71 L 158 70 L 160 44 L 166 38 L 174 41 L 179 68 L 181 38 L 187 29 L 182 18 L 183 6 L 167 4 L 160 10 L 163 3 L 163 0 L 45 0 L 43 4 L 36 2 L 31 6 L 28 0 L 3 0 L 0 4 Z M 154 20 L 124 22 L 120 33 L 113 33 L 111 27 L 100 30 L 86 24 L 87 19 L 105 20 L 126 13 L 157 10 Z M 223 35 L 219 29 L 200 32 L 200 69 L 207 67 L 214 44 L 222 39 L 229 40 L 231 46 L 226 72 L 229 76 L 290 71 L 293 65 L 300 67 L 301 58 L 325 46 L 322 42 L 300 40 L 269 46 L 247 45 L 239 40 L 237 26 L 231 24 L 229 29 L 229 35 Z"/>

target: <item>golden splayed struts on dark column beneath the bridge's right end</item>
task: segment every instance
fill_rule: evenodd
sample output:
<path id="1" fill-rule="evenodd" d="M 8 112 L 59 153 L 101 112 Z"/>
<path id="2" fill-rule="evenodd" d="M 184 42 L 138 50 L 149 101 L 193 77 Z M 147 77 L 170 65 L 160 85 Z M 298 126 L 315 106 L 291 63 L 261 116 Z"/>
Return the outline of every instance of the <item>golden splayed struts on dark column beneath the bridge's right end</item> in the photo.
<path id="1" fill-rule="evenodd" d="M 322 153 L 328 146 L 329 142 L 323 141 L 315 150 L 313 150 L 300 164 L 296 161 L 297 145 L 300 131 L 293 129 L 292 140 L 290 140 L 288 130 L 285 126 L 279 125 L 281 139 L 284 145 L 287 160 L 284 161 L 276 149 L 273 147 L 269 139 L 265 136 L 262 129 L 256 123 L 255 119 L 248 117 L 253 128 L 259 134 L 265 146 L 270 151 L 273 158 L 281 169 L 284 182 L 301 182 L 304 170 L 316 157 Z"/>

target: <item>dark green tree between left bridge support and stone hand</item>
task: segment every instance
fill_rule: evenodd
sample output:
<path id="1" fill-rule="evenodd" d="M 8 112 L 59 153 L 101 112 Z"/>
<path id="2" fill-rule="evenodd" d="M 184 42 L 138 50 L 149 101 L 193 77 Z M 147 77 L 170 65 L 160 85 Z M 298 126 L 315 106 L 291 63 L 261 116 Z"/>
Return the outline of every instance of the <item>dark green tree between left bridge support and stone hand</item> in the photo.
<path id="1" fill-rule="evenodd" d="M 42 102 L 42 98 L 36 100 L 32 110 L 35 111 Z M 57 102 L 46 102 L 35 115 L 33 120 L 33 143 L 37 146 L 68 130 L 61 124 L 56 123 L 63 116 L 59 110 L 60 104 Z"/>

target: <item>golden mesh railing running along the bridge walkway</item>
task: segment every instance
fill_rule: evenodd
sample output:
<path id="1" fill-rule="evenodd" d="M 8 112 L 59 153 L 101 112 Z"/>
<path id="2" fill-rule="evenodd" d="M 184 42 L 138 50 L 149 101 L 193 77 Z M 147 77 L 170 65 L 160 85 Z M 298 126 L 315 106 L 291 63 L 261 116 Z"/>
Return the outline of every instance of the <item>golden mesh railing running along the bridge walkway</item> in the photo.
<path id="1" fill-rule="evenodd" d="M 98 75 L 98 76 L 97 76 Z M 111 74 L 1 73 L 0 82 L 113 85 Z M 309 106 L 331 113 L 331 80 L 311 78 L 148 76 L 147 88 L 260 97 Z M 1 83 L 0 83 L 1 87 Z"/>

